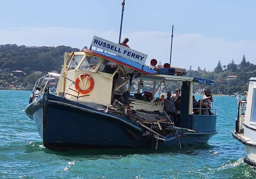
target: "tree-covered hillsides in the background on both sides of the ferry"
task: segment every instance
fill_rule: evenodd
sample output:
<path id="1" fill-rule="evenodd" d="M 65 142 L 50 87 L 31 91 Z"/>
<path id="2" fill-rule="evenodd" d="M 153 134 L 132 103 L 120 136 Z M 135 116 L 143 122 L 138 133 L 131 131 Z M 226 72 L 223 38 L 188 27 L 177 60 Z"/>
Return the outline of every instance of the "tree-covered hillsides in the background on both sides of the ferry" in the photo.
<path id="1" fill-rule="evenodd" d="M 0 45 L 0 86 L 6 86 L 9 83 L 22 84 L 26 86 L 28 83 L 34 83 L 41 74 L 33 74 L 34 71 L 47 73 L 56 70 L 60 73 L 61 65 L 63 64 L 64 53 L 72 51 L 80 51 L 78 48 L 67 46 L 57 47 L 26 47 L 24 45 L 17 46 L 16 44 Z M 242 56 L 241 62 L 235 64 L 234 60 L 230 63 L 222 65 L 216 60 L 214 71 L 201 70 L 198 66 L 197 70 L 187 70 L 186 76 L 200 77 L 211 79 L 216 82 L 216 86 L 212 88 L 213 94 L 225 94 L 243 92 L 248 89 L 248 80 L 250 77 L 256 77 L 256 65 L 246 60 L 245 55 Z M 11 75 L 13 71 L 23 71 L 24 75 Z M 237 76 L 235 79 L 226 80 L 227 76 Z M 198 91 L 199 84 L 194 85 L 194 92 Z M 168 90 L 174 91 L 173 86 L 168 86 Z M 201 88 L 209 88 L 209 86 L 201 85 Z"/>

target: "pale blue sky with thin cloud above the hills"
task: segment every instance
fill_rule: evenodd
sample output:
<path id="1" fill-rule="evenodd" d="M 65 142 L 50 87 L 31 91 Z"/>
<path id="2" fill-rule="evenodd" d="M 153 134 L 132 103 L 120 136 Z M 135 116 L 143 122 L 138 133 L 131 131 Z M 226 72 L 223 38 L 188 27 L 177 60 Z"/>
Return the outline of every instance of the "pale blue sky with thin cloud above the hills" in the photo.
<path id="1" fill-rule="evenodd" d="M 1 1 L 0 44 L 90 46 L 93 35 L 118 42 L 122 0 Z M 213 70 L 218 60 L 256 63 L 256 1 L 126 0 L 128 45 L 162 63 Z"/>

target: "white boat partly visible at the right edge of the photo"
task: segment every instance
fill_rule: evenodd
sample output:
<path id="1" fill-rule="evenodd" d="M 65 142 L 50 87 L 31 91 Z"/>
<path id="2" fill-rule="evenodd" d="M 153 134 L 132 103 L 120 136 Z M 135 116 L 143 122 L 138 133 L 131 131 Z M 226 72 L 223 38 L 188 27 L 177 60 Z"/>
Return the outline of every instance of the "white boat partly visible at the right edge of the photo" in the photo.
<path id="1" fill-rule="evenodd" d="M 240 99 L 245 95 L 245 99 Z M 247 96 L 247 98 L 246 98 Z M 244 92 L 237 96 L 238 116 L 235 129 L 232 135 L 235 139 L 243 143 L 247 152 L 244 162 L 252 167 L 256 167 L 256 78 L 249 79 L 248 93 Z"/>

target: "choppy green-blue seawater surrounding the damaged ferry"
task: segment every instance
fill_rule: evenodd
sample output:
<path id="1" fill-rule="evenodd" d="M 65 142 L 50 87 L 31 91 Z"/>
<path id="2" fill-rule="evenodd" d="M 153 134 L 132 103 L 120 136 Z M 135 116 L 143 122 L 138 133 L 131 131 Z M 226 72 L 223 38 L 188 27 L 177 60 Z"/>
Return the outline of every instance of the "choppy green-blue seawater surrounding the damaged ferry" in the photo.
<path id="1" fill-rule="evenodd" d="M 0 178 L 255 178 L 243 163 L 243 145 L 231 135 L 235 97 L 214 96 L 219 133 L 205 145 L 52 151 L 43 147 L 33 120 L 25 114 L 29 95 L 0 90 Z"/>

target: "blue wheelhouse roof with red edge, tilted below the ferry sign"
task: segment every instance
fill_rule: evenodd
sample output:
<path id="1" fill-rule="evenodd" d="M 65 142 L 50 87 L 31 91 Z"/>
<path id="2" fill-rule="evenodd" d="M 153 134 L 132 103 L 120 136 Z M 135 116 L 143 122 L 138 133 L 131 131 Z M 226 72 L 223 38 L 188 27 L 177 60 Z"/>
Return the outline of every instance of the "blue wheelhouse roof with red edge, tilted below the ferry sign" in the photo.
<path id="1" fill-rule="evenodd" d="M 84 50 L 84 52 L 88 52 L 88 53 L 100 56 L 100 57 L 102 57 L 104 59 L 107 59 L 109 61 L 112 61 L 114 63 L 123 65 L 123 66 L 131 68 L 133 70 L 136 70 L 136 71 L 138 71 L 142 74 L 155 75 L 155 74 L 158 73 L 157 71 L 152 70 L 152 69 L 146 67 L 145 65 L 142 68 L 142 64 L 139 64 L 137 62 L 126 59 L 126 58 L 121 57 L 121 56 L 117 56 L 117 55 L 110 54 L 110 53 L 107 53 L 107 52 L 100 52 L 100 51 L 97 51 L 97 50 L 89 50 L 89 49 L 85 49 L 85 48 L 83 50 Z"/>

